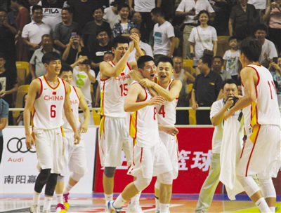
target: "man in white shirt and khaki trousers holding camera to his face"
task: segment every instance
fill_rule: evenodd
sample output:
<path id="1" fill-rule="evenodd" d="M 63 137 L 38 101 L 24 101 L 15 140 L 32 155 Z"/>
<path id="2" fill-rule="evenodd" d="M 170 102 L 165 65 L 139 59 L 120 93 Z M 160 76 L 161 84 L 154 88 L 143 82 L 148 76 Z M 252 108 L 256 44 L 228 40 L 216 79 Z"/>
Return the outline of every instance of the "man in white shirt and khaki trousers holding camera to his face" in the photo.
<path id="1" fill-rule="evenodd" d="M 230 109 L 235 103 L 233 99 L 238 95 L 237 85 L 233 79 L 227 79 L 223 81 L 222 89 L 223 99 L 219 99 L 214 102 L 211 106 L 210 119 L 211 124 L 214 125 L 214 135 L 212 139 L 212 151 L 213 156 L 211 158 L 211 167 L 207 179 L 201 188 L 197 206 L 195 208 L 196 212 L 207 212 L 213 200 L 214 193 L 216 191 L 216 186 L 219 183 L 219 177 L 221 173 L 221 142 L 223 139 L 223 114 Z M 239 116 L 240 112 L 237 111 L 233 116 Z"/>

